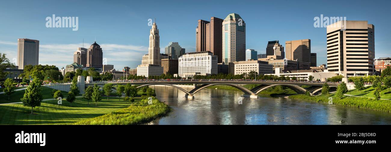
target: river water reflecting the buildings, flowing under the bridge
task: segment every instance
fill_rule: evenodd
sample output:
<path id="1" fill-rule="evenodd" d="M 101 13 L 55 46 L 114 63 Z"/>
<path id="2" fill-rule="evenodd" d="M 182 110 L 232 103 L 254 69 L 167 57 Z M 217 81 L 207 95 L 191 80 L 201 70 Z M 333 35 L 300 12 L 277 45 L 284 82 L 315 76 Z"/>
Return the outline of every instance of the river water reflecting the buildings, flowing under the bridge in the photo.
<path id="1" fill-rule="evenodd" d="M 193 100 L 174 87 L 154 86 L 172 108 L 153 125 L 390 125 L 391 113 L 286 98 L 243 98 L 242 92 L 203 89 Z M 192 88 L 184 88 L 191 90 Z"/>

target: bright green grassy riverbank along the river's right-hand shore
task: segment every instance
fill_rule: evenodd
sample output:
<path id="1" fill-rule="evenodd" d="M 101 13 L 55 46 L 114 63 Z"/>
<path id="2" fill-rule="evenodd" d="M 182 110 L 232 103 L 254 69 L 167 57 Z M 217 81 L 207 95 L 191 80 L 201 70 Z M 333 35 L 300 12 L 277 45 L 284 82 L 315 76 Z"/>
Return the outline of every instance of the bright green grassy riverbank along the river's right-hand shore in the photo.
<path id="1" fill-rule="evenodd" d="M 333 104 L 336 105 L 344 105 L 350 107 L 380 110 L 380 111 L 387 111 L 387 112 L 391 111 L 391 101 L 388 100 L 376 100 L 371 98 L 361 98 L 361 97 L 353 97 L 353 96 L 345 96 L 344 98 L 338 99 L 335 98 L 334 95 L 330 95 L 330 96 L 333 98 Z M 320 103 L 328 103 L 328 97 L 329 96 L 325 96 L 325 95 L 306 96 L 304 94 L 289 96 L 290 99 L 294 99 L 294 100 L 306 100 L 306 101 L 314 101 Z"/>

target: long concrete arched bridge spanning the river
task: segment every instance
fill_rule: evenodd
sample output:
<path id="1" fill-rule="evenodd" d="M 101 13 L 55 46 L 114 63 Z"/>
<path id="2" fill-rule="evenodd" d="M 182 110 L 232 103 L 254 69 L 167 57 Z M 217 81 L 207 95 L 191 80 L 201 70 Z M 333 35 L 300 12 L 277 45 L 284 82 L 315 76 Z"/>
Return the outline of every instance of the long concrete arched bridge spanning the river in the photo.
<path id="1" fill-rule="evenodd" d="M 202 90 L 206 87 L 213 86 L 213 85 L 228 85 L 231 87 L 235 87 L 236 89 L 239 89 L 240 91 L 244 92 L 245 97 L 250 97 L 250 98 L 258 98 L 256 94 L 259 92 L 268 89 L 270 87 L 274 86 L 284 86 L 288 87 L 289 89 L 294 90 L 297 93 L 304 94 L 306 91 L 310 92 L 310 94 L 319 94 L 320 91 L 322 90 L 323 83 L 320 82 L 311 82 L 311 81 L 246 81 L 246 80 L 199 80 L 199 81 L 177 81 L 177 80 L 143 80 L 143 81 L 94 81 L 91 83 L 85 83 L 86 87 L 88 85 L 104 85 L 106 83 L 115 83 L 115 84 L 126 84 L 130 83 L 132 85 L 140 85 L 140 87 L 145 87 L 149 85 L 166 85 L 170 87 L 177 88 L 183 92 L 186 93 L 187 98 L 194 98 L 194 94 L 197 93 L 199 90 Z M 193 90 L 187 91 L 181 87 L 178 87 L 176 85 L 180 84 L 194 84 L 196 87 Z M 242 86 L 245 84 L 257 84 L 258 86 L 249 90 L 246 87 Z M 306 89 L 303 87 L 300 87 L 302 85 L 307 85 Z M 331 83 L 328 82 L 328 85 L 330 87 L 337 87 L 338 83 Z"/>

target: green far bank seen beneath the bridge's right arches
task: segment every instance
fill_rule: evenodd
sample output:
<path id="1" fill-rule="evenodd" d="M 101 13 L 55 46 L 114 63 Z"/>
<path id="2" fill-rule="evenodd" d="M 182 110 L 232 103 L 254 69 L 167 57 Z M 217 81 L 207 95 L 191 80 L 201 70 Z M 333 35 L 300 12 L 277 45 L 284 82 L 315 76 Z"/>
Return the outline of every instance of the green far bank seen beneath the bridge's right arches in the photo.
<path id="1" fill-rule="evenodd" d="M 254 87 L 257 87 L 258 85 L 256 84 L 247 84 L 247 85 L 244 85 L 244 87 L 246 87 L 247 89 L 251 90 L 253 89 Z M 214 85 L 214 86 L 210 86 L 208 88 L 211 88 L 211 89 L 223 89 L 223 90 L 235 90 L 235 91 L 240 91 L 239 89 L 236 89 L 235 87 L 231 87 L 231 86 L 226 86 L 226 85 Z M 290 94 L 297 94 L 294 90 L 292 89 L 289 89 L 289 88 L 286 88 L 286 87 L 283 87 L 283 86 L 276 86 L 276 87 L 272 87 L 272 88 L 269 88 L 269 89 L 266 89 L 266 90 L 263 90 L 262 92 L 259 92 L 259 94 L 263 94 L 263 95 L 269 95 L 269 96 L 278 96 L 278 95 L 290 95 Z"/>

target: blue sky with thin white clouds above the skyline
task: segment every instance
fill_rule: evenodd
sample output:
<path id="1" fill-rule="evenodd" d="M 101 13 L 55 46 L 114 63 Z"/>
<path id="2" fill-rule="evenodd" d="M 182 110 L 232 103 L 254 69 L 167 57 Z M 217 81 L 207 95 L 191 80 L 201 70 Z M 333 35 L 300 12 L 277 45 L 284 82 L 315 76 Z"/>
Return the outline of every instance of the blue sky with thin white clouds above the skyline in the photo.
<path id="1" fill-rule="evenodd" d="M 224 19 L 239 14 L 246 22 L 246 46 L 265 53 L 267 41 L 311 39 L 317 64 L 326 63 L 326 29 L 314 27 L 314 17 L 346 17 L 368 20 L 375 25 L 376 58 L 390 55 L 389 0 L 259 0 L 246 1 L 5 1 L 0 5 L 0 52 L 13 61 L 17 39 L 40 41 L 39 64 L 65 67 L 72 63 L 77 47 L 88 48 L 95 40 L 103 49 L 107 64 L 115 69 L 135 68 L 147 54 L 148 19 L 156 18 L 160 49 L 179 42 L 186 52 L 195 51 L 197 20 L 214 16 Z M 79 30 L 47 28 L 46 17 L 78 17 Z"/>

